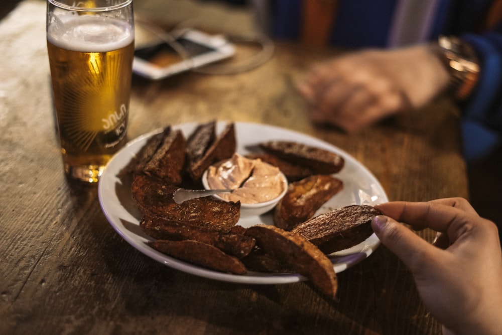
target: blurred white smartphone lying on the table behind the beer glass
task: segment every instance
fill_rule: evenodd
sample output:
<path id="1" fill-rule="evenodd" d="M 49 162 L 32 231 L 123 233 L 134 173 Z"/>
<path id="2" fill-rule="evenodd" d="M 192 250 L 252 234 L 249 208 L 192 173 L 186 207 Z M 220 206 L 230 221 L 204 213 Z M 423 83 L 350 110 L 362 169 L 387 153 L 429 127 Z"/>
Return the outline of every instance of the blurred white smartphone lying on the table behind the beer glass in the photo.
<path id="1" fill-rule="evenodd" d="M 234 46 L 220 35 L 198 30 L 173 32 L 172 42 L 160 41 L 135 50 L 133 72 L 158 80 L 210 64 L 235 53 Z"/>

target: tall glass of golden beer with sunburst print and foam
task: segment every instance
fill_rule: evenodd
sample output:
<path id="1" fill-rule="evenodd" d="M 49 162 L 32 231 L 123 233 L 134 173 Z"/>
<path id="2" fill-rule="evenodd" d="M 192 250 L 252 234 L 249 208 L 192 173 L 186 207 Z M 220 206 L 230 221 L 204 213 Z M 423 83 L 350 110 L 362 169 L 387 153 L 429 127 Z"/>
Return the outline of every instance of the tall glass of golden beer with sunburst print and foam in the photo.
<path id="1" fill-rule="evenodd" d="M 48 0 L 47 50 L 65 173 L 97 182 L 127 141 L 132 0 Z"/>

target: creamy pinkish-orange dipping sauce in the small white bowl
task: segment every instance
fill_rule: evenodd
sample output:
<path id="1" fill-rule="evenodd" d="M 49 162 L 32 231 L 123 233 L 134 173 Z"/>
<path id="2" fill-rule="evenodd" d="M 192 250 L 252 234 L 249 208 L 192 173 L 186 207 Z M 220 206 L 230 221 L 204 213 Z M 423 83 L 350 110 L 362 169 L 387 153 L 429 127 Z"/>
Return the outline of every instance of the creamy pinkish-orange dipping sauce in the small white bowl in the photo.
<path id="1" fill-rule="evenodd" d="M 260 203 L 277 198 L 285 189 L 284 175 L 279 168 L 261 159 L 248 159 L 237 153 L 228 161 L 210 166 L 207 184 L 211 189 L 235 189 L 218 194 L 230 201 Z"/>

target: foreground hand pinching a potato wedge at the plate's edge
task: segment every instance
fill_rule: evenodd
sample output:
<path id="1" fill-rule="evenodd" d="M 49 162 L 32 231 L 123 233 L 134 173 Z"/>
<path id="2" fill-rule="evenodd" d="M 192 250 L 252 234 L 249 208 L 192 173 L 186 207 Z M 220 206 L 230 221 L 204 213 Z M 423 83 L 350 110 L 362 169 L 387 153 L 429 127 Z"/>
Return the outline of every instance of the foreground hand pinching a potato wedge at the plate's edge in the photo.
<path id="1" fill-rule="evenodd" d="M 371 225 L 413 274 L 443 333 L 502 334 L 502 251 L 493 222 L 467 200 L 388 202 Z M 397 221 L 440 233 L 430 245 Z"/>

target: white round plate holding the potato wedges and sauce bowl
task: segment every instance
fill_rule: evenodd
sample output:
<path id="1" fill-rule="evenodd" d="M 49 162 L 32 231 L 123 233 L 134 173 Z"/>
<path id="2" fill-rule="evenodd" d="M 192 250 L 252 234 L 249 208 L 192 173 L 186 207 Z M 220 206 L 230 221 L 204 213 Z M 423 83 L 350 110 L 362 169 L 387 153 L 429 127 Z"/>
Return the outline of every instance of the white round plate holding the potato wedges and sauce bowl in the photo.
<path id="1" fill-rule="evenodd" d="M 225 125 L 226 122 L 218 122 L 218 131 L 223 130 Z M 181 129 L 186 137 L 191 134 L 195 127 L 196 124 L 173 126 L 174 129 Z M 143 135 L 131 141 L 110 160 L 100 178 L 98 186 L 99 202 L 106 218 L 115 231 L 129 244 L 152 259 L 174 269 L 197 276 L 249 284 L 284 284 L 306 280 L 305 277 L 299 274 L 249 272 L 246 275 L 232 275 L 221 273 L 169 257 L 147 245 L 147 242 L 153 239 L 143 233 L 139 226 L 141 212 L 131 196 L 131 181 L 121 180 L 118 175 L 120 170 L 145 145 L 147 139 L 160 131 Z M 270 140 L 301 142 L 342 155 L 345 159 L 345 166 L 336 174 L 336 177 L 343 180 L 343 190 L 320 208 L 316 215 L 350 204 L 374 205 L 388 201 L 382 185 L 371 172 L 346 152 L 331 144 L 291 130 L 251 123 L 235 123 L 235 134 L 237 137 L 237 152 L 243 155 L 253 151 L 259 143 Z M 256 224 L 272 225 L 272 215 L 269 212 L 261 216 L 241 218 L 238 224 L 243 227 L 250 227 Z M 329 255 L 335 272 L 341 272 L 367 258 L 379 244 L 379 239 L 373 234 L 365 241 L 350 249 Z"/>

